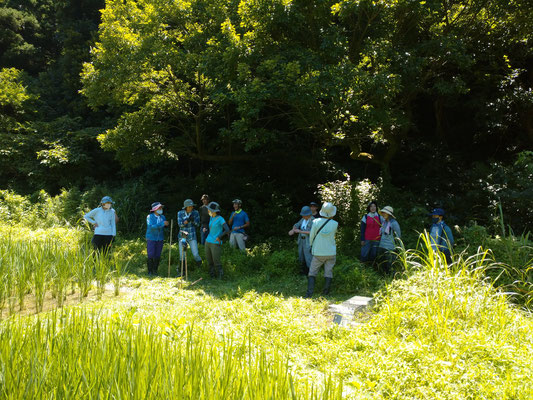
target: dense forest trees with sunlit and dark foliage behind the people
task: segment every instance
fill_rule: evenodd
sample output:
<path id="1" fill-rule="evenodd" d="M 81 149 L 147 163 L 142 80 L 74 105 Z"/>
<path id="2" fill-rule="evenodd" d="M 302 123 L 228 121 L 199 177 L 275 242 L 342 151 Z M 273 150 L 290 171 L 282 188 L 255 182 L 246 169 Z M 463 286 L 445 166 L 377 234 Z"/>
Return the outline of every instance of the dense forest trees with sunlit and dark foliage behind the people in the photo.
<path id="1" fill-rule="evenodd" d="M 465 216 L 495 199 L 527 214 L 532 6 L 4 0 L 0 183 L 172 175 L 196 193 L 217 175 L 300 204 L 348 173 Z"/>

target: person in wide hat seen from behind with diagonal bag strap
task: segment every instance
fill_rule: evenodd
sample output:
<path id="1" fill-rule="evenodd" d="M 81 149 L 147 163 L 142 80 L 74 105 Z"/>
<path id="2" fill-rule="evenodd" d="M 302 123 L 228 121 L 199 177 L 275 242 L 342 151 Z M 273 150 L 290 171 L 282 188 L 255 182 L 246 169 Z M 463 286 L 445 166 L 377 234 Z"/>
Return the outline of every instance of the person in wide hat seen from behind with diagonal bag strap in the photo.
<path id="1" fill-rule="evenodd" d="M 324 278 L 326 278 L 323 294 L 329 294 L 333 280 L 333 267 L 337 260 L 335 233 L 339 223 L 333 220 L 335 214 L 337 214 L 337 207 L 326 202 L 320 209 L 321 218 L 315 219 L 311 226 L 309 243 L 311 244 L 313 259 L 307 277 L 307 292 L 305 294 L 307 298 L 313 296 L 316 276 L 322 265 L 324 265 Z"/>

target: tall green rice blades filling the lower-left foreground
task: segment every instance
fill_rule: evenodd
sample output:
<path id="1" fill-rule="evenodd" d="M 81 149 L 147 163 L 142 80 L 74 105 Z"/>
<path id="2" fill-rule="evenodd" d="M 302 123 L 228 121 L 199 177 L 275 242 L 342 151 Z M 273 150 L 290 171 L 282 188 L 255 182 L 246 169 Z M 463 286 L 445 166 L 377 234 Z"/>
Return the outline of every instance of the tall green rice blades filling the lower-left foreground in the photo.
<path id="1" fill-rule="evenodd" d="M 335 380 L 300 382 L 267 354 L 175 319 L 81 309 L 0 326 L 3 398 L 341 399 Z"/>

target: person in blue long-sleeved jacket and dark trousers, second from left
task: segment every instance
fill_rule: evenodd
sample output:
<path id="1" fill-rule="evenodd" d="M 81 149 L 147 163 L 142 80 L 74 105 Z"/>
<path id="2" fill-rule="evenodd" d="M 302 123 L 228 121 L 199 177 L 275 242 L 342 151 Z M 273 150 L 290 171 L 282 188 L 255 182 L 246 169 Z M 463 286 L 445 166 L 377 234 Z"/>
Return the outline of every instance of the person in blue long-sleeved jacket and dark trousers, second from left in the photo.
<path id="1" fill-rule="evenodd" d="M 165 227 L 168 221 L 163 215 L 163 204 L 152 203 L 150 214 L 146 217 L 146 252 L 148 254 L 148 275 L 157 275 L 163 240 L 165 239 Z"/>

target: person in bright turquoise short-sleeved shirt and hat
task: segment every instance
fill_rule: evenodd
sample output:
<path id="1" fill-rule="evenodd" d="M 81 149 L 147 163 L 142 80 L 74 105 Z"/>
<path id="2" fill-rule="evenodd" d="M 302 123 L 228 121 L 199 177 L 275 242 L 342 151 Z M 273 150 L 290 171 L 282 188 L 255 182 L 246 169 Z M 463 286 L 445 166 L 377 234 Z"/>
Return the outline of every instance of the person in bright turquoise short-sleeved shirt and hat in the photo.
<path id="1" fill-rule="evenodd" d="M 209 212 L 209 235 L 205 239 L 205 258 L 209 264 L 209 275 L 222 279 L 222 238 L 229 233 L 226 220 L 220 215 L 220 206 L 212 201 L 207 205 Z"/>

